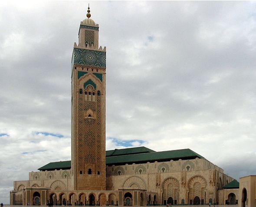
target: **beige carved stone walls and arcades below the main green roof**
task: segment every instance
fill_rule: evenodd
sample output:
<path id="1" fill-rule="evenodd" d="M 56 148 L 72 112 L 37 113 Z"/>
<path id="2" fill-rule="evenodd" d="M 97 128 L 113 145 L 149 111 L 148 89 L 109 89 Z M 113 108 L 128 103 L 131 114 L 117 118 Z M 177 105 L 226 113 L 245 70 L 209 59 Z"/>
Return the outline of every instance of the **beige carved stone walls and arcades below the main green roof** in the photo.
<path id="1" fill-rule="evenodd" d="M 74 190 L 70 175 L 71 169 L 30 172 L 30 180 L 14 182 L 12 204 L 36 204 L 35 192 L 43 205 L 225 204 L 232 194 L 238 200 L 238 189 L 222 189 L 233 178 L 206 159 L 107 166 L 104 191 Z"/>

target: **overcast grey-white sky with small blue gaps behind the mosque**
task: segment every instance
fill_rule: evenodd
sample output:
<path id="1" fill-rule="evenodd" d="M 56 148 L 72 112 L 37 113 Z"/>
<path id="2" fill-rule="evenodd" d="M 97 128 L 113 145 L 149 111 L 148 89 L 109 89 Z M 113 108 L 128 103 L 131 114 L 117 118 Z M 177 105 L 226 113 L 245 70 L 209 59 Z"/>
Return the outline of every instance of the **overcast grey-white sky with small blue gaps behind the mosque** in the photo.
<path id="1" fill-rule="evenodd" d="M 107 47 L 106 149 L 190 148 L 256 174 L 255 1 L 0 3 L 0 201 L 71 159 L 71 56 L 90 3 Z"/>

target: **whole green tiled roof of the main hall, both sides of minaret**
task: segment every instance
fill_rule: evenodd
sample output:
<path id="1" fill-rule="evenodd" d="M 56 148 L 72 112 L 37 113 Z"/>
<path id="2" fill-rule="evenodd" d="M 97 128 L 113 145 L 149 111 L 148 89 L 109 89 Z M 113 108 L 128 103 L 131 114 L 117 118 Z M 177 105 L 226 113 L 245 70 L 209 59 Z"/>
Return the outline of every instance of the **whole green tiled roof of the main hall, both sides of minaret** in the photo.
<path id="1" fill-rule="evenodd" d="M 106 165 L 125 165 L 132 163 L 145 163 L 145 162 L 166 162 L 178 159 L 195 159 L 203 158 L 199 154 L 190 149 L 183 150 L 169 150 L 163 152 L 155 152 L 146 147 L 134 147 L 121 150 L 108 150 L 106 151 Z M 39 168 L 38 170 L 55 170 L 55 169 L 70 169 L 71 161 L 50 162 L 47 165 Z M 231 183 L 231 182 L 230 182 Z"/>

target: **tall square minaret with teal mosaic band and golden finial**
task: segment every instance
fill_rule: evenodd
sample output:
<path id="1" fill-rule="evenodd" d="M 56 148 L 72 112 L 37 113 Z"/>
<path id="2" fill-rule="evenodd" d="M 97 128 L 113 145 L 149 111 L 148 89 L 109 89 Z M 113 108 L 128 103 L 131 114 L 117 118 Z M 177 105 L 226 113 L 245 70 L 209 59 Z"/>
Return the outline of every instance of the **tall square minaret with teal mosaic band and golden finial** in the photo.
<path id="1" fill-rule="evenodd" d="M 106 48 L 98 48 L 99 27 L 89 9 L 72 55 L 72 186 L 105 190 Z"/>

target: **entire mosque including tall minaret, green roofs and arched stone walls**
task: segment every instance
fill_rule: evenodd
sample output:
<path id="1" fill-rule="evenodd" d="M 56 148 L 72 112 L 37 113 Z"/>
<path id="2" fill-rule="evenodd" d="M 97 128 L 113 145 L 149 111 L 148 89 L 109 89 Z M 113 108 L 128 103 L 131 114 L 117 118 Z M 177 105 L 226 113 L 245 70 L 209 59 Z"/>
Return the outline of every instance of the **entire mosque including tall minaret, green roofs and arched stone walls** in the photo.
<path id="1" fill-rule="evenodd" d="M 99 26 L 90 17 L 88 8 L 72 54 L 71 161 L 50 162 L 29 180 L 14 181 L 10 204 L 248 204 L 247 177 L 240 190 L 223 169 L 190 149 L 105 151 L 106 48 L 98 46 Z"/>

